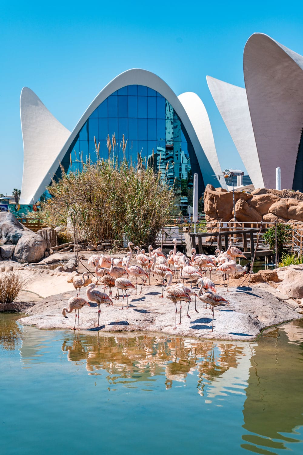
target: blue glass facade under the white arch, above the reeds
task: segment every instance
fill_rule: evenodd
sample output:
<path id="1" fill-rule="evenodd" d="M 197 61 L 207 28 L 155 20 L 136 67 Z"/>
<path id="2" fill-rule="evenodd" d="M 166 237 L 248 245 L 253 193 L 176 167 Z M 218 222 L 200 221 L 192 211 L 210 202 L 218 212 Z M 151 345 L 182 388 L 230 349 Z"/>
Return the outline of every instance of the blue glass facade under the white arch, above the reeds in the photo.
<path id="1" fill-rule="evenodd" d="M 204 182 L 197 157 L 183 123 L 169 102 L 157 91 L 146 86 L 125 86 L 112 93 L 89 116 L 65 154 L 62 165 L 65 172 L 75 171 L 78 163 L 75 157 L 82 152 L 83 161 L 90 156 L 96 160 L 94 136 L 100 142 L 100 158 L 108 158 L 107 136 L 116 136 L 117 144 L 124 134 L 126 158 L 138 161 L 141 152 L 143 162 L 152 156 L 157 169 L 164 172 L 168 164 L 167 178 L 170 185 L 175 181 L 176 204 L 187 213 L 187 206 L 193 201 L 193 174 L 198 173 L 198 194 L 204 191 Z M 122 151 L 118 152 L 122 154 Z M 70 164 L 70 156 L 72 165 Z M 122 158 L 122 155 L 118 158 Z M 60 176 L 60 169 L 56 172 Z"/>

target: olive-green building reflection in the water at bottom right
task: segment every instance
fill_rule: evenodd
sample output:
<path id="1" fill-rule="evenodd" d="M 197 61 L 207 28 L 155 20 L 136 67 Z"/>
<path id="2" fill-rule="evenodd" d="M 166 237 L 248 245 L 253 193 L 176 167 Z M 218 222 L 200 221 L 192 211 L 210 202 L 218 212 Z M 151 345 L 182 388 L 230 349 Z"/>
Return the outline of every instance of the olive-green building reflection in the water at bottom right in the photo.
<path id="1" fill-rule="evenodd" d="M 257 453 L 289 449 L 296 440 L 294 429 L 303 425 L 303 346 L 289 343 L 287 336 L 291 333 L 293 339 L 302 340 L 302 322 L 284 327 L 263 335 L 252 358 L 243 409 L 243 428 L 248 433 L 242 437 L 242 447 Z"/>

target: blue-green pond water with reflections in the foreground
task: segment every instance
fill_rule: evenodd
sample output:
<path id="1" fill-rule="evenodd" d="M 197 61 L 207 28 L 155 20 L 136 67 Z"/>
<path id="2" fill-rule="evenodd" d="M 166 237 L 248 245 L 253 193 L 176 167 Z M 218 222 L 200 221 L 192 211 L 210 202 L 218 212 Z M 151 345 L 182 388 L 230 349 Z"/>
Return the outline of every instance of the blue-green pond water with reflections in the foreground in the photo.
<path id="1" fill-rule="evenodd" d="M 42 331 L 0 314 L 10 454 L 303 454 L 303 321 L 256 342 Z"/>

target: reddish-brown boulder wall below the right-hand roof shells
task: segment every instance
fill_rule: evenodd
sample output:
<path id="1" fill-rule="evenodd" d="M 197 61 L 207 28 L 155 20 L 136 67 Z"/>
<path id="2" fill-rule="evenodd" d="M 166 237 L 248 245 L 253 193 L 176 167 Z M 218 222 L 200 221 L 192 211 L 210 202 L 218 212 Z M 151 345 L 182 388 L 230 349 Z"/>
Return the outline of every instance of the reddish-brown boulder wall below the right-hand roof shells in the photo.
<path id="1" fill-rule="evenodd" d="M 257 188 L 252 193 L 235 191 L 238 222 L 303 222 L 303 193 Z M 233 193 L 207 185 L 204 192 L 206 221 L 232 222 Z"/>

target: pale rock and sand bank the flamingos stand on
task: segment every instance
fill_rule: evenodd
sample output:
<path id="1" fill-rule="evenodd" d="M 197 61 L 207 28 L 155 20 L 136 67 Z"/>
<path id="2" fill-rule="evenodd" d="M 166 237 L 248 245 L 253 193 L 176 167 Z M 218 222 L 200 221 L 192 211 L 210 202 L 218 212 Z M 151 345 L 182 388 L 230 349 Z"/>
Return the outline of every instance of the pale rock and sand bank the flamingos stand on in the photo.
<path id="1" fill-rule="evenodd" d="M 79 272 L 86 270 L 87 259 L 90 252 L 81 252 L 84 255 L 83 264 L 79 264 Z M 43 263 L 51 263 L 54 260 L 52 255 L 45 258 Z M 123 256 L 117 254 L 116 256 Z M 57 253 L 56 259 L 67 260 L 74 257 L 73 253 Z M 131 263 L 136 263 L 133 257 Z M 84 267 L 85 266 L 85 267 Z M 90 272 L 94 268 L 87 267 Z M 72 283 L 67 283 L 66 273 L 54 271 L 20 270 L 26 277 L 27 284 L 25 291 L 20 293 L 18 301 L 22 301 L 22 311 L 28 306 L 28 317 L 20 319 L 24 325 L 34 325 L 40 329 L 67 329 L 73 328 L 75 312 L 68 314 L 65 319 L 62 308 L 67 305 L 70 297 L 76 296 Z M 55 273 L 55 274 L 53 274 Z M 207 273 L 209 276 L 209 272 Z M 302 318 L 302 314 L 295 310 L 298 304 L 278 292 L 276 285 L 270 286 L 267 283 L 240 287 L 243 277 L 237 280 L 230 280 L 230 290 L 227 292 L 223 285 L 222 274 L 212 273 L 212 280 L 216 284 L 218 293 L 226 298 L 230 305 L 219 306 L 214 309 L 214 332 L 212 328 L 212 312 L 205 309 L 204 303 L 197 299 L 195 312 L 194 299 L 190 303 L 189 315 L 187 317 L 187 304 L 182 304 L 181 324 L 174 330 L 175 306 L 166 298 L 160 298 L 161 283 L 157 277 L 151 276 L 151 284 L 144 286 L 142 294 L 134 295 L 129 293 L 129 309 L 120 310 L 122 298 L 114 300 L 114 306 L 101 306 L 100 325 L 97 327 L 97 304 L 92 303 L 91 307 L 85 306 L 80 310 L 79 324 L 81 330 L 97 330 L 102 332 L 162 332 L 163 334 L 178 334 L 199 339 L 224 339 L 224 340 L 253 340 L 266 327 L 280 324 L 291 319 Z M 131 278 L 134 283 L 134 279 Z M 189 280 L 185 283 L 190 284 Z M 104 291 L 99 286 L 100 291 Z M 86 298 L 86 288 L 82 288 L 80 296 Z M 198 293 L 195 286 L 194 291 Z M 108 291 L 106 291 L 108 293 Z M 115 289 L 113 288 L 113 297 Z M 18 302 L 17 302 L 18 303 Z M 126 303 L 126 302 L 125 302 Z M 125 304 L 124 303 L 124 304 Z M 20 303 L 21 306 L 21 303 Z M 180 305 L 177 304 L 177 324 L 180 322 Z M 12 308 L 13 309 L 13 308 Z M 78 321 L 77 321 L 78 324 Z M 76 325 L 77 326 L 77 325 Z"/>

